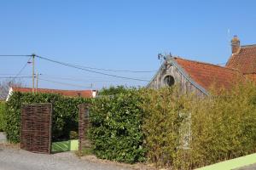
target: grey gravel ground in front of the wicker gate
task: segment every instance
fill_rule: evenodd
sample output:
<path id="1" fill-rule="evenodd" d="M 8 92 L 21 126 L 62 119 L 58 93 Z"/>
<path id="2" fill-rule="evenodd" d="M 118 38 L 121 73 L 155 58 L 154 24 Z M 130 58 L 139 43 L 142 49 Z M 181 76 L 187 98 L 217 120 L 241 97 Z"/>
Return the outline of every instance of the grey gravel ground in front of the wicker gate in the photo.
<path id="1" fill-rule="evenodd" d="M 0 170 L 128 170 L 129 167 L 81 160 L 73 152 L 53 155 L 35 154 L 26 150 L 0 147 Z"/>

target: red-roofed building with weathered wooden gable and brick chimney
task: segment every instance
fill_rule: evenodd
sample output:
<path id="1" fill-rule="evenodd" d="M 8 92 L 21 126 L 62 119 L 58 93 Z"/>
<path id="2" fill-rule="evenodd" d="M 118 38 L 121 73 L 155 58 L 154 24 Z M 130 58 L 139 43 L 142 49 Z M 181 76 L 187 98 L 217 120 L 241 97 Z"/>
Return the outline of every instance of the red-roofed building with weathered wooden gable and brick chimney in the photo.
<path id="1" fill-rule="evenodd" d="M 256 82 L 256 45 L 240 46 L 238 37 L 231 41 L 232 55 L 225 66 L 167 56 L 148 88 L 179 84 L 181 90 L 207 96 L 211 88 L 231 88 L 246 77 Z"/>

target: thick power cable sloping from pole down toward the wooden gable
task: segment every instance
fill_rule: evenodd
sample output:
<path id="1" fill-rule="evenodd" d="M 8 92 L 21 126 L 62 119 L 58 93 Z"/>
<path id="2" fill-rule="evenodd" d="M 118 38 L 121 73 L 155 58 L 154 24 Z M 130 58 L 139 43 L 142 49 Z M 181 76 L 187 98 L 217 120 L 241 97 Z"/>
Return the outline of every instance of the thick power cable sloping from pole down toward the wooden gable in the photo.
<path id="1" fill-rule="evenodd" d="M 117 75 L 112 75 L 112 74 L 108 74 L 108 73 L 104 73 L 104 72 L 101 72 L 101 71 L 91 71 L 91 70 L 88 70 L 88 69 L 85 69 L 79 65 L 72 65 L 72 64 L 67 64 L 67 63 L 63 63 L 61 61 L 57 61 L 57 60 L 54 60 L 54 59 L 48 59 L 46 57 L 42 57 L 42 56 L 38 56 L 36 55 L 39 59 L 44 59 L 44 60 L 48 60 L 50 62 L 53 62 L 53 63 L 56 63 L 56 64 L 59 64 L 59 65 L 65 65 L 65 66 L 69 66 L 69 67 L 73 67 L 73 68 L 76 68 L 76 69 L 79 69 L 79 70 L 82 70 L 82 71 L 89 71 L 89 72 L 93 72 L 93 73 L 96 73 L 96 74 L 101 74 L 101 75 L 104 75 L 104 76 L 108 76 L 108 77 L 117 77 L 117 78 L 122 78 L 122 79 L 127 79 L 127 80 L 135 80 L 135 81 L 141 81 L 141 82 L 149 82 L 148 80 L 143 80 L 143 79 L 138 79 L 138 78 L 131 78 L 131 77 L 121 77 L 121 76 L 117 76 Z"/>

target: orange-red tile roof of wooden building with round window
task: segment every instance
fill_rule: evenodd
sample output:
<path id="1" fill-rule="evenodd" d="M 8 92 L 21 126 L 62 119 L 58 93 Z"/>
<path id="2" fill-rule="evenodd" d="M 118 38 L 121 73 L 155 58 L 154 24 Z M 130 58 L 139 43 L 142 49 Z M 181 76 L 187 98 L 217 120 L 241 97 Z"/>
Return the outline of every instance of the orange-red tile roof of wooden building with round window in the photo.
<path id="1" fill-rule="evenodd" d="M 174 59 L 189 77 L 206 90 L 209 90 L 212 86 L 215 88 L 230 88 L 234 82 L 244 78 L 235 69 L 177 57 Z"/>

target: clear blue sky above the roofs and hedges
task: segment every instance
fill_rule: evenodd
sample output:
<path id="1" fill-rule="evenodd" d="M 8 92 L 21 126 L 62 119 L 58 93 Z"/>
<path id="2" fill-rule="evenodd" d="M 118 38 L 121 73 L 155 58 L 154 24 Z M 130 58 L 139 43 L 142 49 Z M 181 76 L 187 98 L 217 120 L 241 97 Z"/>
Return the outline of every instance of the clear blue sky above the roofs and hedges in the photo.
<path id="1" fill-rule="evenodd" d="M 0 2 L 0 54 L 35 53 L 77 65 L 132 71 L 158 70 L 158 53 L 225 63 L 233 35 L 240 37 L 241 44 L 256 43 L 255 7 L 254 0 L 6 0 Z M 16 74 L 26 60 L 1 57 L 0 77 Z M 46 80 L 84 88 L 90 83 L 93 88 L 147 84 L 77 71 L 41 59 L 36 59 L 36 71 Z M 31 72 L 32 65 L 28 65 L 21 76 Z M 147 80 L 154 75 L 104 72 Z M 32 86 L 31 79 L 23 82 Z M 83 87 L 39 81 L 39 88 Z"/>

